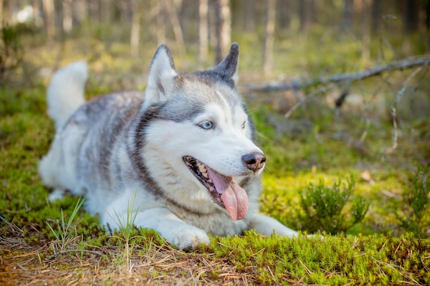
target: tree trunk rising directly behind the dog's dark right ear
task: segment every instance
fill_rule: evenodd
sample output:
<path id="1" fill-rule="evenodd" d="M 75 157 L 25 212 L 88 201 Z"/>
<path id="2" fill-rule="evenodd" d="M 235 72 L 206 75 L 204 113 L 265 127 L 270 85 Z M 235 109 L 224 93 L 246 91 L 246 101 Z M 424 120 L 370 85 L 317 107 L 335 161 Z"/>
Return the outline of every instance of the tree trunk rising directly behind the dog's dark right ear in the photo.
<path id="1" fill-rule="evenodd" d="M 231 16 L 229 0 L 215 0 L 215 62 L 218 64 L 227 54 L 231 42 Z"/>

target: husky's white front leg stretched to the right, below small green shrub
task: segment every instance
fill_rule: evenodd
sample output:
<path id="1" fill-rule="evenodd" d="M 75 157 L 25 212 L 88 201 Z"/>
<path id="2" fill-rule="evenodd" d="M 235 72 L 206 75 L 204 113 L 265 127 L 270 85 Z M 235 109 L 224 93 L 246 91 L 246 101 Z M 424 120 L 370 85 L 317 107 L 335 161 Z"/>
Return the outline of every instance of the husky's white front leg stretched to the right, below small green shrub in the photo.
<path id="1" fill-rule="evenodd" d="M 263 235 L 271 235 L 273 231 L 277 235 L 285 235 L 287 237 L 294 237 L 297 235 L 296 231 L 287 228 L 276 219 L 268 217 L 267 215 L 253 215 L 249 223 L 249 228 L 255 229 L 257 233 L 262 233 Z"/>

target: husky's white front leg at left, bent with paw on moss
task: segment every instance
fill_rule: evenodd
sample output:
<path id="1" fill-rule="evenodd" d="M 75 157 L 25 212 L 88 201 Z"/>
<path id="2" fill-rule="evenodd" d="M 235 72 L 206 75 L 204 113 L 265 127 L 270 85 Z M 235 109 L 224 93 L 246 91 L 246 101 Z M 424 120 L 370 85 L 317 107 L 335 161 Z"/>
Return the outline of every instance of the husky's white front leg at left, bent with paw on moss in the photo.
<path id="1" fill-rule="evenodd" d="M 208 244 L 210 242 L 204 230 L 186 224 L 168 208 L 150 208 L 133 215 L 135 215 L 135 226 L 156 230 L 162 237 L 177 246 L 180 250 L 197 248 L 202 243 Z M 118 218 L 122 219 L 115 215 L 105 215 L 104 224 L 117 226 Z M 122 224 L 124 225 L 124 222 Z"/>

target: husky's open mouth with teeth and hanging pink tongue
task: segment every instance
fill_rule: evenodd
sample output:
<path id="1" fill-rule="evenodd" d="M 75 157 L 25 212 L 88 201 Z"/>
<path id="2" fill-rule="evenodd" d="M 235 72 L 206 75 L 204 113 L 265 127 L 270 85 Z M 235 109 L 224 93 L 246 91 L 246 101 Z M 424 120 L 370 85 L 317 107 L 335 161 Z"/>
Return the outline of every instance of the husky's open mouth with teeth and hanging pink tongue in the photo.
<path id="1" fill-rule="evenodd" d="M 248 195 L 233 177 L 219 174 L 192 156 L 184 156 L 188 169 L 207 188 L 216 204 L 223 206 L 231 219 L 243 219 L 248 213 Z"/>

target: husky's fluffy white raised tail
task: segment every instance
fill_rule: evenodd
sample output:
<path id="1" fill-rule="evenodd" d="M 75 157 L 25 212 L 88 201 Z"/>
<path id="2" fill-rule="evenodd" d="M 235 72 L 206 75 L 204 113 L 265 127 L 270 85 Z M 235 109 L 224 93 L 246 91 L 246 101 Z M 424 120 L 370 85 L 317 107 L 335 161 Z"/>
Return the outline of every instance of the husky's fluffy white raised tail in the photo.
<path id="1" fill-rule="evenodd" d="M 87 78 L 87 63 L 83 61 L 73 62 L 54 73 L 47 88 L 47 102 L 56 130 L 62 128 L 73 112 L 85 103 Z"/>

